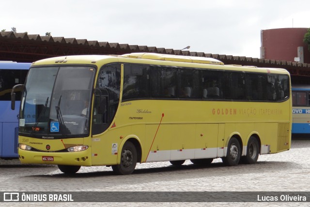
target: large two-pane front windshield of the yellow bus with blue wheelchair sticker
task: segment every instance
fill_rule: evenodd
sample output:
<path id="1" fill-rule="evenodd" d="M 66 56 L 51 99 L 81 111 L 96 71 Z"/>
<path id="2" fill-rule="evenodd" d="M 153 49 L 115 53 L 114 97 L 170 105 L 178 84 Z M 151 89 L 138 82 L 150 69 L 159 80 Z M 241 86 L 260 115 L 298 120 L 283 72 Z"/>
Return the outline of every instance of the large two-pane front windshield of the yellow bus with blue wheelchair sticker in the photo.
<path id="1" fill-rule="evenodd" d="M 62 138 L 89 133 L 95 69 L 88 66 L 34 67 L 28 74 L 19 132 Z"/>

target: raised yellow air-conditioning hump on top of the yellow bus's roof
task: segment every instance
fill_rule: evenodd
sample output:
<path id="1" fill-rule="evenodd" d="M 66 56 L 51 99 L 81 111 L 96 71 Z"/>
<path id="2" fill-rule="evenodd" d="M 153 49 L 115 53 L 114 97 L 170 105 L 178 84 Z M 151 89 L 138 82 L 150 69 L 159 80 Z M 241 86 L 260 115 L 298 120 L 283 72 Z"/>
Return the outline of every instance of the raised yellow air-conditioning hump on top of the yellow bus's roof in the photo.
<path id="1" fill-rule="evenodd" d="M 196 57 L 196 56 L 182 56 L 182 55 L 169 55 L 169 54 L 158 54 L 158 53 L 130 53 L 120 55 L 120 57 L 126 58 L 141 58 L 150 60 L 161 60 L 161 61 L 174 61 L 174 62 L 185 62 L 185 63 L 200 63 L 200 64 L 221 64 L 224 63 L 214 58 Z"/>

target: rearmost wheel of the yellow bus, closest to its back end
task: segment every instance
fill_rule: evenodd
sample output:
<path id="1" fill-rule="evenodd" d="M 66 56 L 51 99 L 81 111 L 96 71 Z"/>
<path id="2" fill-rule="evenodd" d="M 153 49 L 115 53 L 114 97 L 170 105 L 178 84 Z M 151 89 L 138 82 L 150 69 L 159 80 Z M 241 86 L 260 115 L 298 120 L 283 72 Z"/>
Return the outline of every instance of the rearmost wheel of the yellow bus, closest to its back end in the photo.
<path id="1" fill-rule="evenodd" d="M 241 157 L 240 161 L 245 164 L 255 164 L 259 156 L 260 146 L 257 139 L 253 136 L 248 140 L 247 155 Z"/>

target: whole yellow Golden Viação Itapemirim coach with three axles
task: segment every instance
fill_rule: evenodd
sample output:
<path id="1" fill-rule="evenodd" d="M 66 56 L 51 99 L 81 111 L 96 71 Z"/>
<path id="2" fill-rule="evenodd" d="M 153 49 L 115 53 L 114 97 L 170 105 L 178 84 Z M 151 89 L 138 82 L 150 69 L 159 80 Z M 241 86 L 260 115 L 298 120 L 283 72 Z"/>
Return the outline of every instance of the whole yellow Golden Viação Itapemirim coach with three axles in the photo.
<path id="1" fill-rule="evenodd" d="M 186 159 L 234 166 L 291 145 L 285 69 L 156 53 L 65 56 L 34 62 L 23 88 L 20 161 L 66 174 L 105 165 L 128 175 L 137 162 Z"/>

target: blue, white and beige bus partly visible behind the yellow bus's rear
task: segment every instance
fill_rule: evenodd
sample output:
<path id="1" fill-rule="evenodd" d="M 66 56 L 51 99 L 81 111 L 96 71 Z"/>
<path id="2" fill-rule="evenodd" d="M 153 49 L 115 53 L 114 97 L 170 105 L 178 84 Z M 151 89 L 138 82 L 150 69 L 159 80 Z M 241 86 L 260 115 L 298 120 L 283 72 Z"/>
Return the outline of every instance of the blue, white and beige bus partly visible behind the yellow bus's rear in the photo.
<path id="1" fill-rule="evenodd" d="M 310 85 L 292 86 L 293 135 L 310 134 Z"/>

